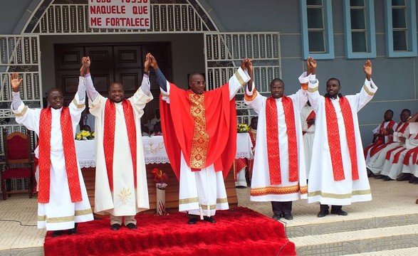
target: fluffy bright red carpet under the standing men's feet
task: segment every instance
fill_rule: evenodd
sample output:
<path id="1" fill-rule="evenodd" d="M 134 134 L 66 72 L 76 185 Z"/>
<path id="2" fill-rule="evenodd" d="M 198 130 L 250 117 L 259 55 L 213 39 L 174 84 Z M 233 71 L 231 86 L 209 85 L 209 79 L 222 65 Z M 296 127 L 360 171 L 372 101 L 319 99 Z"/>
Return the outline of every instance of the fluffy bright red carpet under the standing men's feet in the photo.
<path id="1" fill-rule="evenodd" d="M 187 224 L 185 213 L 137 215 L 137 230 L 110 230 L 110 220 L 79 223 L 77 235 L 53 238 L 50 255 L 296 255 L 283 224 L 248 208 L 216 211 L 216 223 Z"/>

